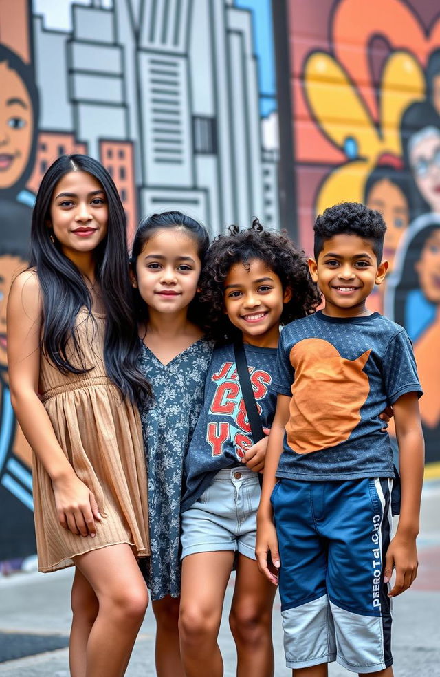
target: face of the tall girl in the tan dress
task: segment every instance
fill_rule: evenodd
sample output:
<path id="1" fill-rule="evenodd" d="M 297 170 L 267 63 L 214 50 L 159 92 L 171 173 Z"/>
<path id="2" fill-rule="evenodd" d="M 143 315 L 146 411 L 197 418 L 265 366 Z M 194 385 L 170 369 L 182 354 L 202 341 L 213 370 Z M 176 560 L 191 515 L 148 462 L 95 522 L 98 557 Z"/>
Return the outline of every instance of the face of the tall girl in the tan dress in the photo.
<path id="1" fill-rule="evenodd" d="M 89 255 L 107 235 L 109 208 L 100 182 L 85 171 L 58 181 L 50 202 L 48 228 L 71 260 Z"/>

